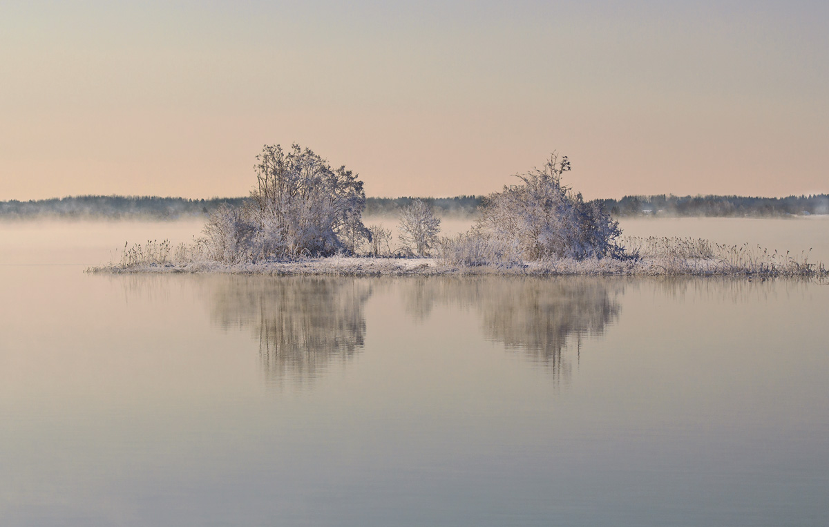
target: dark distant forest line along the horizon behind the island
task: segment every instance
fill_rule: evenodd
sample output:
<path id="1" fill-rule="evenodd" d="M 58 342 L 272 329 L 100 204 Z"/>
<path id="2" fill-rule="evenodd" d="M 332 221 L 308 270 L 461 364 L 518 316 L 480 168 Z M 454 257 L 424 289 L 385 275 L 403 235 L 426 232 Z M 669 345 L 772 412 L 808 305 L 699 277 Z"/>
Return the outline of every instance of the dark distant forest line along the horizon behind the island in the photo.
<path id="1" fill-rule="evenodd" d="M 418 198 L 366 199 L 364 215 L 397 215 Z M 439 215 L 469 216 L 481 205 L 482 196 L 420 198 Z M 0 201 L 0 219 L 37 218 L 181 220 L 209 215 L 219 205 L 239 206 L 246 197 L 188 200 L 158 196 L 71 196 L 37 201 Z M 618 217 L 639 215 L 666 216 L 784 216 L 829 214 L 829 194 L 781 198 L 749 196 L 624 196 L 621 200 L 596 200 Z"/>

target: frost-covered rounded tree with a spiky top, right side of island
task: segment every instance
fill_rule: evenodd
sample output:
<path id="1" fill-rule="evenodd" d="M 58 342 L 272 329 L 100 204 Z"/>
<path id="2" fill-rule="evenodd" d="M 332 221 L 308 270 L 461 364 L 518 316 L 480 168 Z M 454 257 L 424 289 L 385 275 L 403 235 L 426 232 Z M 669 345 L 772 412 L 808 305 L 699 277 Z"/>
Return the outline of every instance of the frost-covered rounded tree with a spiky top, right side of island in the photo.
<path id="1" fill-rule="evenodd" d="M 505 186 L 484 200 L 478 234 L 522 259 L 622 254 L 615 242 L 621 234 L 618 222 L 561 183 L 569 171 L 568 158 L 554 152 L 543 167 L 516 175 L 521 184 Z"/>

